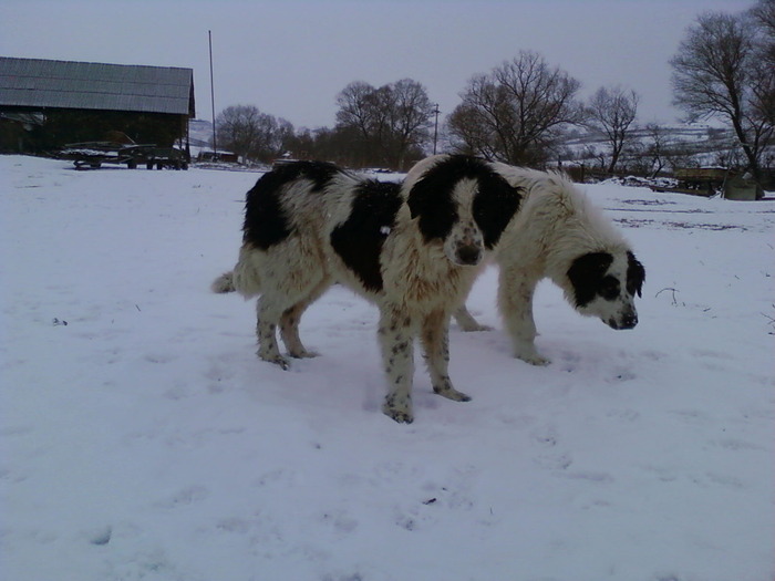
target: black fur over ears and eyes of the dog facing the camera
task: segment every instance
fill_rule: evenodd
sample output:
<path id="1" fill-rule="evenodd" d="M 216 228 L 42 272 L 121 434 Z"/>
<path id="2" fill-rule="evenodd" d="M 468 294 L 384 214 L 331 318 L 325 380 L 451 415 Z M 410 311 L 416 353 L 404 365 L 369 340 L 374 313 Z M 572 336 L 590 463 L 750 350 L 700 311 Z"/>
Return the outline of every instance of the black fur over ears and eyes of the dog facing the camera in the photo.
<path id="1" fill-rule="evenodd" d="M 474 219 L 482 229 L 485 246 L 493 248 L 519 208 L 521 196 L 518 188 L 512 187 L 484 159 L 451 155 L 430 168 L 409 194 L 412 218 L 420 217 L 420 231 L 426 241 L 446 238 L 458 218 L 452 191 L 466 178 L 478 181 Z"/>

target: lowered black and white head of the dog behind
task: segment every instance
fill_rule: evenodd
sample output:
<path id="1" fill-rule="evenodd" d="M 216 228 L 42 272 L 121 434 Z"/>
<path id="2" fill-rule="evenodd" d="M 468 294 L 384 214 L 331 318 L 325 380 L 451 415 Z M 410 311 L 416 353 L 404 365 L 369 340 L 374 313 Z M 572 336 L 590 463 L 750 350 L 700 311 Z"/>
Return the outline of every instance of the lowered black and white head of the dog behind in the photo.
<path id="1" fill-rule="evenodd" d="M 645 269 L 627 250 L 589 252 L 576 258 L 568 269 L 576 310 L 599 317 L 611 329 L 632 329 L 638 324 L 636 294 L 641 295 Z"/>

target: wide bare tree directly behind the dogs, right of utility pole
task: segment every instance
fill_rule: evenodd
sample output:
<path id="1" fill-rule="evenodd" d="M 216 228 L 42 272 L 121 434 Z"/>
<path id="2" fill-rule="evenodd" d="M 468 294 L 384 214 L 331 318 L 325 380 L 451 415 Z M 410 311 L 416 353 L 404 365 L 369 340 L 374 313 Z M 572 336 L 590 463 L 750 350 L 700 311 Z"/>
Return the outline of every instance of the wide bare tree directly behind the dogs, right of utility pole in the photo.
<path id="1" fill-rule="evenodd" d="M 523 51 L 474 76 L 447 120 L 457 148 L 512 164 L 542 164 L 561 129 L 582 120 L 579 82 Z"/>

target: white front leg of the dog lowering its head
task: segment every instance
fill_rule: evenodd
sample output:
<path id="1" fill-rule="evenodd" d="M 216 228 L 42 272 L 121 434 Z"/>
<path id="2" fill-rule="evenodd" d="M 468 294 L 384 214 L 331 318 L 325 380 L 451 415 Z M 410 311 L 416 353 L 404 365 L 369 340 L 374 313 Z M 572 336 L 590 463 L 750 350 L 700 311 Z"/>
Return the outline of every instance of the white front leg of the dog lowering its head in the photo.
<path id="1" fill-rule="evenodd" d="M 551 361 L 536 350 L 536 322 L 533 319 L 533 295 L 538 279 L 526 277 L 519 269 L 500 270 L 498 307 L 514 343 L 514 356 L 533 365 Z"/>

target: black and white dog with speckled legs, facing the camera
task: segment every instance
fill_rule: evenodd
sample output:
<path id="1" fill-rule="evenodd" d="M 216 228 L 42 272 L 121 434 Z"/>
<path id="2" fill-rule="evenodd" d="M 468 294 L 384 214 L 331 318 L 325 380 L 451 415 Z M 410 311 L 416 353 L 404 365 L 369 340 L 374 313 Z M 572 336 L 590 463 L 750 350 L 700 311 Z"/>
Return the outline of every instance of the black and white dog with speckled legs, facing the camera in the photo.
<path id="1" fill-rule="evenodd" d="M 277 326 L 291 357 L 312 356 L 299 339 L 299 319 L 341 282 L 380 309 L 388 416 L 413 421 L 415 338 L 434 392 L 467 401 L 447 374 L 450 317 L 464 304 L 521 199 L 518 187 L 483 167 L 463 157 L 451 167 L 433 163 L 407 188 L 327 163 L 280 166 L 248 191 L 238 262 L 213 290 L 260 295 L 258 355 L 287 369 Z"/>

